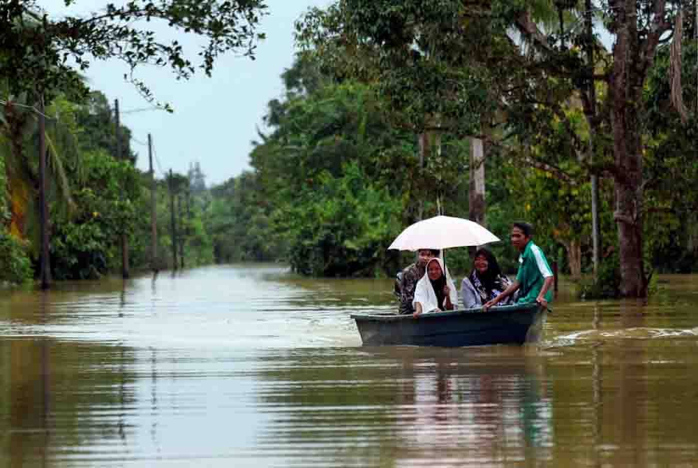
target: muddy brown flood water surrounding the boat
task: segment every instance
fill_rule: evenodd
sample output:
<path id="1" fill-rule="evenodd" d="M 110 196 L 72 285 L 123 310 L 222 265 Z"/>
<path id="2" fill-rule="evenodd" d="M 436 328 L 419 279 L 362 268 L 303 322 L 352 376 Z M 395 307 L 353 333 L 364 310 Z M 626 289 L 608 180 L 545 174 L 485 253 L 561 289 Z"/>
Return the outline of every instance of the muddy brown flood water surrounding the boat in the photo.
<path id="1" fill-rule="evenodd" d="M 537 345 L 361 346 L 392 281 L 230 265 L 0 291 L 2 467 L 698 465 L 698 276 L 563 283 Z"/>

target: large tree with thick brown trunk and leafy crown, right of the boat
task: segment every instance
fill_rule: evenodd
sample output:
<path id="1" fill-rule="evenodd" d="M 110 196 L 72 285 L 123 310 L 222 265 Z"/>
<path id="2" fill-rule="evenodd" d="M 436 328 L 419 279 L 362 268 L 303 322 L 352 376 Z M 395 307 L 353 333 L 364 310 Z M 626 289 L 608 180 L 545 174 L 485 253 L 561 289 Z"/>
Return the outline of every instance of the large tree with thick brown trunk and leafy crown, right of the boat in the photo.
<path id="1" fill-rule="evenodd" d="M 518 136 L 524 148 L 532 138 L 545 136 L 552 120 L 563 122 L 572 152 L 542 154 L 542 158 L 531 162 L 559 173 L 561 159 L 572 156 L 589 175 L 601 173 L 612 177 L 621 291 L 626 296 L 646 295 L 648 278 L 642 237 L 646 210 L 642 92 L 658 46 L 668 40 L 667 33 L 675 30 L 677 36 L 681 36 L 675 24 L 681 24 L 678 18 L 682 3 L 671 0 L 602 2 L 599 8 L 603 13 L 602 24 L 615 39 L 612 51 L 604 50 L 600 41 L 592 40 L 588 28 L 580 27 L 585 24 L 585 12 L 577 8 L 575 1 L 402 0 L 388 2 L 389 5 L 384 3 L 338 1 L 332 8 L 339 12 L 335 15 L 339 20 L 330 23 L 336 25 L 336 29 L 325 37 L 332 38 L 335 43 L 348 44 L 349 50 L 363 47 L 377 54 L 382 60 L 383 74 L 378 75 L 380 87 L 401 89 L 403 92 L 392 93 L 392 96 L 395 99 L 406 96 L 410 115 L 420 112 L 427 115 L 424 111 L 430 109 L 422 105 L 426 101 L 435 106 L 431 110 L 443 112 L 438 115 L 446 124 L 450 121 L 447 106 L 438 106 L 443 98 L 452 98 L 466 110 L 468 122 L 478 122 L 496 106 L 505 116 L 502 122 L 505 136 Z M 555 10 L 559 13 L 558 28 L 536 21 L 541 11 Z M 586 15 L 586 24 L 590 23 L 588 17 Z M 569 21 L 565 22 L 565 18 Z M 471 28 L 473 25 L 477 27 Z M 322 27 L 325 24 L 320 23 L 320 29 Z M 517 31 L 517 36 L 511 34 L 512 30 Z M 415 49 L 422 52 L 423 39 L 426 45 L 430 44 L 432 31 L 439 33 L 431 41 L 438 47 L 432 45 L 428 50 L 440 52 L 440 60 L 431 62 L 440 67 L 420 68 L 424 64 L 419 61 L 419 55 L 416 60 L 410 56 L 415 55 Z M 472 34 L 468 35 L 468 31 Z M 682 37 L 674 39 L 681 41 Z M 581 47 L 586 47 L 586 53 Z M 320 50 L 322 52 L 325 50 Z M 454 67 L 459 57 L 466 56 L 466 68 Z M 334 59 L 336 54 L 330 57 Z M 459 69 L 477 71 L 479 79 L 471 78 L 475 73 L 450 75 Z M 505 73 L 492 72 L 496 70 Z M 412 80 L 417 71 L 427 78 Z M 419 87 L 419 83 L 428 80 L 432 87 Z M 454 83 L 461 84 L 467 94 L 462 101 L 447 92 Z M 597 85 L 602 88 L 599 93 Z M 488 95 L 487 87 L 493 89 L 498 99 L 476 101 L 475 98 Z M 433 89 L 438 91 L 435 93 Z M 565 107 L 575 100 L 581 101 L 587 117 L 589 137 L 586 139 L 580 138 L 565 116 Z M 482 105 L 479 108 L 467 105 L 475 102 Z M 411 112 L 413 110 L 415 112 Z"/>

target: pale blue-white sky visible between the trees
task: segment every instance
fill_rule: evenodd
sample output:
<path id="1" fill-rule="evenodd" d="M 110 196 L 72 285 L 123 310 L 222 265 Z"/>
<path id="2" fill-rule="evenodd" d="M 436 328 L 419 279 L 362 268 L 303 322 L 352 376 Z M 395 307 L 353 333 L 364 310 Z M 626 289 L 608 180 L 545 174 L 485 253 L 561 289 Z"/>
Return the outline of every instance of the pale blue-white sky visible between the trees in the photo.
<path id="1" fill-rule="evenodd" d="M 64 0 L 39 0 L 50 15 L 85 15 L 101 10 L 107 1 L 77 0 L 66 9 Z M 138 168 L 148 169 L 147 142 L 151 133 L 156 154 L 156 174 L 174 170 L 186 173 L 198 161 L 206 182 L 220 184 L 249 169 L 251 141 L 258 140 L 256 126 L 263 128 L 267 102 L 283 96 L 281 73 L 291 66 L 295 52 L 294 22 L 311 6 L 327 6 L 331 0 L 267 0 L 268 13 L 259 31 L 267 35 L 258 45 L 253 61 L 227 54 L 214 66 L 211 78 L 197 73 L 177 81 L 169 68 L 140 68 L 143 80 L 158 101 L 174 108 L 128 112 L 149 107 L 131 83 L 124 81 L 128 67 L 120 61 L 94 61 L 85 73 L 89 86 L 103 92 L 113 103 L 119 99 L 121 122 L 133 132 L 131 147 L 138 153 Z M 166 38 L 175 35 L 166 25 L 156 27 Z M 180 43 L 194 49 L 197 39 L 183 35 Z"/>

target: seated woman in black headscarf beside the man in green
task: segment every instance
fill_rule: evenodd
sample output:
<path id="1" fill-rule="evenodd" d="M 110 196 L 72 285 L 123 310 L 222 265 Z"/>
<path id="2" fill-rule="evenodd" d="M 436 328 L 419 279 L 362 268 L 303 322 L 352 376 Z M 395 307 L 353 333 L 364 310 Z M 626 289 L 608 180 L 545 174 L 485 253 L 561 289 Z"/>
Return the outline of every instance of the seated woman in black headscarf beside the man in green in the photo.
<path id="1" fill-rule="evenodd" d="M 499 269 L 497 259 L 491 251 L 480 248 L 475 251 L 474 268 L 470 275 L 463 278 L 461 283 L 461 300 L 464 309 L 481 307 L 484 303 L 496 298 L 512 282 Z M 507 305 L 514 302 L 513 298 L 507 298 L 499 305 Z"/>

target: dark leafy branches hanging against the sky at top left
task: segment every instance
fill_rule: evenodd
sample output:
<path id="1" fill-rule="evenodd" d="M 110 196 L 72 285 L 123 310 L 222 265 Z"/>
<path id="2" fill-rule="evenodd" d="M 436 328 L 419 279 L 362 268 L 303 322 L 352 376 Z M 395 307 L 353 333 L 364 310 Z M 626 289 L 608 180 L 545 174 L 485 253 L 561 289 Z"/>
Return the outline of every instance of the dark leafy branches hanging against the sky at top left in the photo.
<path id="1" fill-rule="evenodd" d="M 75 68 L 84 72 L 93 59 L 121 59 L 132 72 L 143 64 L 170 66 L 178 79 L 189 78 L 197 69 L 210 75 L 220 54 L 235 51 L 253 57 L 257 40 L 264 37 L 255 31 L 266 8 L 260 0 L 129 0 L 107 3 L 103 11 L 87 17 L 59 18 L 45 15 L 37 3 L 0 3 L 0 77 L 22 77 L 10 82 L 11 94 L 84 92 Z M 147 27 L 151 20 L 165 22 L 179 36 L 203 38 L 200 63 L 187 57 L 179 41 L 159 38 Z M 133 76 L 131 80 L 151 98 L 143 82 Z"/>

